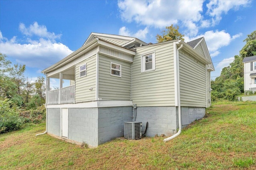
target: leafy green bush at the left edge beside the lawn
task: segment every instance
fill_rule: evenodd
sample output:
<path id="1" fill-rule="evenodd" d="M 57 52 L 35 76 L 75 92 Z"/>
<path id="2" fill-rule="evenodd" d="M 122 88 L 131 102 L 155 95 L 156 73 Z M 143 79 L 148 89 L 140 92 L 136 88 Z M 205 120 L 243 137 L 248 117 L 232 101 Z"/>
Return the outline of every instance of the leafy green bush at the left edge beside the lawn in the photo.
<path id="1" fill-rule="evenodd" d="M 0 100 L 0 133 L 21 129 L 24 118 L 19 116 L 18 109 L 8 100 Z"/>

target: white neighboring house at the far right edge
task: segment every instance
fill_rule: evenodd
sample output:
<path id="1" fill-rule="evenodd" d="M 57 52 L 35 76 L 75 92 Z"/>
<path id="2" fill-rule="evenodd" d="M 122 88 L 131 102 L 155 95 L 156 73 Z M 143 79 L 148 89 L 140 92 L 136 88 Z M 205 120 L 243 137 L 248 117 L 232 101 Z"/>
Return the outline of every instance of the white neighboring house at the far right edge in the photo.
<path id="1" fill-rule="evenodd" d="M 244 94 L 246 91 L 256 92 L 256 55 L 245 57 L 244 63 Z"/>

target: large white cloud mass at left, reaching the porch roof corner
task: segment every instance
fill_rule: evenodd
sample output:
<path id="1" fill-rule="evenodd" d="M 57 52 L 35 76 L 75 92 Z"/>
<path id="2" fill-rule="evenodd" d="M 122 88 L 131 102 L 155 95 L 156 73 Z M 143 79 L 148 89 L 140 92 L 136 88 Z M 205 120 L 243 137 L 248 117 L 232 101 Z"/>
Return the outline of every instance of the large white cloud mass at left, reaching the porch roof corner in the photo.
<path id="1" fill-rule="evenodd" d="M 37 25 L 37 23 L 35 23 L 35 26 L 30 25 L 31 29 L 23 28 L 22 33 L 28 36 L 34 33 L 34 35 L 39 37 L 36 37 L 37 40 L 25 37 L 26 39 L 22 40 L 22 42 L 25 41 L 25 43 L 17 42 L 16 36 L 8 40 L 0 31 L 0 53 L 14 59 L 15 62 L 19 64 L 44 69 L 73 52 L 66 45 L 57 43 L 54 39 L 42 38 L 57 38 L 59 35 L 55 35 L 55 33 L 47 34 L 48 32 L 44 25 Z M 33 31 L 33 28 L 36 27 L 43 28 L 41 30 L 44 31 Z"/>

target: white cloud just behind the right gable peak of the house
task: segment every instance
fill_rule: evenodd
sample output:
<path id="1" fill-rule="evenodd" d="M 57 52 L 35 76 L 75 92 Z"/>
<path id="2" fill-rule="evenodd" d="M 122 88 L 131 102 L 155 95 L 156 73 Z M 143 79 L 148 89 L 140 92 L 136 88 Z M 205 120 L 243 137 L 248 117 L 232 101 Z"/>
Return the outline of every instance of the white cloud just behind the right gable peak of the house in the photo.
<path id="1" fill-rule="evenodd" d="M 229 33 L 226 33 L 224 30 L 222 31 L 206 31 L 204 34 L 198 35 L 194 38 L 185 37 L 186 41 L 192 41 L 194 39 L 198 39 L 200 37 L 204 37 L 209 53 L 211 57 L 215 57 L 220 54 L 220 48 L 227 46 L 230 42 L 238 37 L 240 37 L 242 33 L 238 33 L 236 35 L 230 36 Z"/>

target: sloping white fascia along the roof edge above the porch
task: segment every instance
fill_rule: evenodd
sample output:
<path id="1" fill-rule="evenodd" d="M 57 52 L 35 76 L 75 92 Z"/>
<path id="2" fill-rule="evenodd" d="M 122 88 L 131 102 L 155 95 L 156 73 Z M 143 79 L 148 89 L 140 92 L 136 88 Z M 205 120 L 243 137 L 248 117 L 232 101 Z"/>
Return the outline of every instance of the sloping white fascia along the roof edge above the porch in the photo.
<path id="1" fill-rule="evenodd" d="M 92 49 L 92 48 L 96 47 L 97 46 L 97 41 L 98 41 L 98 39 L 94 39 L 94 40 L 90 41 L 90 43 L 80 47 L 79 49 L 77 49 L 76 51 L 74 51 L 73 53 L 71 53 L 70 55 L 68 55 L 67 57 L 65 57 L 61 61 L 59 61 L 58 63 L 53 64 L 52 66 L 42 70 L 42 73 L 47 73 L 47 72 L 50 72 L 52 70 L 55 70 L 55 69 L 61 67 L 62 65 L 68 63 L 70 60 L 74 59 L 75 57 L 80 56 L 81 53 L 84 53 L 84 51 L 86 51 L 86 50 L 88 51 L 89 49 Z"/>

